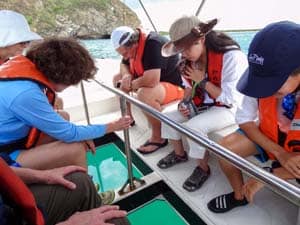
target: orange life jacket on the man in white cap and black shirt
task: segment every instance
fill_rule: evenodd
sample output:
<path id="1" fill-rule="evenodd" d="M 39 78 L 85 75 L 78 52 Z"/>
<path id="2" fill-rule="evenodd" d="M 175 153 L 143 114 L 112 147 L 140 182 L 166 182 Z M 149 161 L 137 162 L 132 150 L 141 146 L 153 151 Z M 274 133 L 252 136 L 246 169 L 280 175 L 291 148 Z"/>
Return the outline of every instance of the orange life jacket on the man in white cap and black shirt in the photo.
<path id="1" fill-rule="evenodd" d="M 137 28 L 139 31 L 139 42 L 134 59 L 129 60 L 129 70 L 134 78 L 143 76 L 144 66 L 143 66 L 143 55 L 146 45 L 147 34 L 141 29 Z"/>

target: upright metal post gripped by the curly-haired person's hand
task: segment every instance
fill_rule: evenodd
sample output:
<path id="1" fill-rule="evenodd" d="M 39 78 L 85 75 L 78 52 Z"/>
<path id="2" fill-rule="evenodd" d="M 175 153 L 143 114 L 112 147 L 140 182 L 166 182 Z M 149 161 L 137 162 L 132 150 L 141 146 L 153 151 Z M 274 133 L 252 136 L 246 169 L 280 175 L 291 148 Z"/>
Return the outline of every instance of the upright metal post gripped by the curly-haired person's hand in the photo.
<path id="1" fill-rule="evenodd" d="M 127 115 L 127 106 L 126 106 L 126 98 L 124 96 L 120 97 L 120 107 L 122 116 Z M 145 184 L 144 180 L 137 179 L 133 176 L 132 172 L 132 157 L 130 151 L 130 139 L 129 139 L 129 128 L 123 130 L 124 133 L 124 142 L 125 142 L 125 154 L 127 160 L 127 170 L 128 170 L 128 180 L 119 190 L 119 195 L 126 194 L 130 191 L 137 189 L 138 187 Z"/>

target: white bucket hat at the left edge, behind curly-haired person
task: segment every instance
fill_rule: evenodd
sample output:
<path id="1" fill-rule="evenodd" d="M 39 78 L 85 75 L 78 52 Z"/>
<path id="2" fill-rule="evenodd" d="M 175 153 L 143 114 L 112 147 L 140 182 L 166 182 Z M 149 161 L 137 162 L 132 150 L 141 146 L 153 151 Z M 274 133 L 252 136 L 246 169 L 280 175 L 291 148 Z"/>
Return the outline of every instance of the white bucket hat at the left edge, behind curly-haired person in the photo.
<path id="1" fill-rule="evenodd" d="M 30 30 L 25 17 L 10 10 L 0 10 L 0 47 L 40 40 L 42 37 Z"/>

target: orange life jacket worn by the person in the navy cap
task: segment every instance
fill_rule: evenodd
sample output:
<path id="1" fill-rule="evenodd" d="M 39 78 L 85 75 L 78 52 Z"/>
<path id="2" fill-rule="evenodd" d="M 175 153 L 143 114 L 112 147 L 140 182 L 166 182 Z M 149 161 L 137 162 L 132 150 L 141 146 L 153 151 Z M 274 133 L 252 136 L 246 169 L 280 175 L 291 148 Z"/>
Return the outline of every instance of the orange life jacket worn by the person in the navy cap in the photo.
<path id="1" fill-rule="evenodd" d="M 279 143 L 277 99 L 274 96 L 261 98 L 259 107 L 259 129 L 272 141 Z M 288 151 L 300 150 L 300 102 L 297 102 L 296 112 L 291 121 L 290 130 L 287 133 L 283 148 Z M 271 159 L 274 155 L 267 152 Z"/>

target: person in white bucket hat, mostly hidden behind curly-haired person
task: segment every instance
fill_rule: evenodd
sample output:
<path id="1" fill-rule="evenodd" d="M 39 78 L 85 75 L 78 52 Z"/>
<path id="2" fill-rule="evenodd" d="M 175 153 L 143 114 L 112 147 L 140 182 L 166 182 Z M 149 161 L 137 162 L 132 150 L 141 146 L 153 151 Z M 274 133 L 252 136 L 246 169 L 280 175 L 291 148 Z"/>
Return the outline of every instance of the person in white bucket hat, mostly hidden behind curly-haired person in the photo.
<path id="1" fill-rule="evenodd" d="M 11 10 L 0 10 L 0 65 L 9 58 L 21 55 L 30 42 L 42 40 L 42 37 L 30 30 L 25 17 Z M 62 99 L 55 98 L 54 105 L 63 105 Z M 62 107 L 56 108 L 65 119 L 70 115 Z"/>

